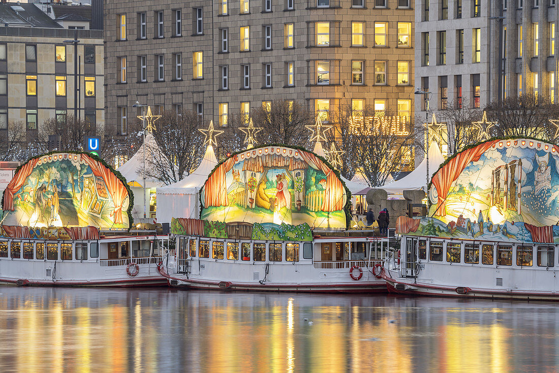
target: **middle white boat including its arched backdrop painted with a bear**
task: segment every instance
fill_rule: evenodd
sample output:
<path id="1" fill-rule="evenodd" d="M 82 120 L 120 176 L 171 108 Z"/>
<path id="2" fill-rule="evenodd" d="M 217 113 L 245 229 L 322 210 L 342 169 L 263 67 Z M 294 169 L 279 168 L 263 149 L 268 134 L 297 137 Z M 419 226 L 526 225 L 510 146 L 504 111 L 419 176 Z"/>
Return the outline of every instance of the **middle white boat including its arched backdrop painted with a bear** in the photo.
<path id="1" fill-rule="evenodd" d="M 386 292 L 390 239 L 347 229 L 348 195 L 315 153 L 264 145 L 233 154 L 201 188 L 200 219 L 172 219 L 177 249 L 160 273 L 191 289 Z"/>

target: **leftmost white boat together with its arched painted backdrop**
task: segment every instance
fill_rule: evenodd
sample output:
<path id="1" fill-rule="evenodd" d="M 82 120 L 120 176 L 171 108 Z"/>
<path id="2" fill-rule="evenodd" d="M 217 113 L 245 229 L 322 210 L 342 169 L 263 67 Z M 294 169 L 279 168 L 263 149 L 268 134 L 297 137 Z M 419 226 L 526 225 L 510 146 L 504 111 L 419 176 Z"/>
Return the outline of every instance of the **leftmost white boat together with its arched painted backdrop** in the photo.
<path id="1" fill-rule="evenodd" d="M 168 235 L 130 230 L 133 195 L 87 153 L 49 153 L 16 170 L 3 195 L 0 284 L 165 286 Z"/>

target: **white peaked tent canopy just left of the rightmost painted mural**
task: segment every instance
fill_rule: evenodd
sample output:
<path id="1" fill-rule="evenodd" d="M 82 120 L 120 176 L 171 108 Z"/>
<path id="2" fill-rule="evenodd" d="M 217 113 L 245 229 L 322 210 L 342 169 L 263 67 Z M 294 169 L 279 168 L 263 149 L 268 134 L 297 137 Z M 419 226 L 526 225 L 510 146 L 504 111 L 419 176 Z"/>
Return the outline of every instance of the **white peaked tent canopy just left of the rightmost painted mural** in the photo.
<path id="1" fill-rule="evenodd" d="M 433 141 L 429 146 L 429 180 L 443 162 L 444 157 L 440 153 L 439 145 Z M 389 195 L 402 195 L 405 190 L 427 191 L 427 157 L 424 157 L 419 166 L 405 177 L 380 188 L 389 193 Z"/>

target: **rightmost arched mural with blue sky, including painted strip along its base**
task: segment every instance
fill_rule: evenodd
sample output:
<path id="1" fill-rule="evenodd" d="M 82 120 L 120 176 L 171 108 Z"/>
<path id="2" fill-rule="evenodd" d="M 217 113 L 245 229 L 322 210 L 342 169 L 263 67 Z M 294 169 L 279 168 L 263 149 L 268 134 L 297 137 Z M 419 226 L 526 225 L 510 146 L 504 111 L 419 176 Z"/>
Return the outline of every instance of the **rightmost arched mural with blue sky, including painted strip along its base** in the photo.
<path id="1" fill-rule="evenodd" d="M 433 175 L 429 218 L 397 221 L 399 233 L 518 242 L 559 242 L 559 147 L 489 140 Z"/>

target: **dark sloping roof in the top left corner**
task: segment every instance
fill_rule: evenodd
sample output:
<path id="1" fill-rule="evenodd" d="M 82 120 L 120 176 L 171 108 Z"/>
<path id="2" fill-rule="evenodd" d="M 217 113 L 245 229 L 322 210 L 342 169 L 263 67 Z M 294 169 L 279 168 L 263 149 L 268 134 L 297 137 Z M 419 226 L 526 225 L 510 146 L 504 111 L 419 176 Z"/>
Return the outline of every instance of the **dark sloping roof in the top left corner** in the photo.
<path id="1" fill-rule="evenodd" d="M 62 27 L 37 8 L 35 4 L 27 3 L 0 3 L 0 25 L 53 29 Z"/>

